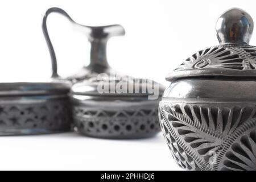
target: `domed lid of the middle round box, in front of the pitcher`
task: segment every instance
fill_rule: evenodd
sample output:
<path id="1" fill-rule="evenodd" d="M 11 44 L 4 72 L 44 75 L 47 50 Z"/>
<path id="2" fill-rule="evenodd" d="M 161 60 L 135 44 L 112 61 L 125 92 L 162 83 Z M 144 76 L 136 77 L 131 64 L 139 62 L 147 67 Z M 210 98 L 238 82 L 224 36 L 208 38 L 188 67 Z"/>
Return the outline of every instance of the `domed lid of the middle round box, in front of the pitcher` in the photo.
<path id="1" fill-rule="evenodd" d="M 93 77 L 74 84 L 71 88 L 71 95 L 81 96 L 127 96 L 127 97 L 148 97 L 162 96 L 164 86 L 158 82 L 133 78 L 130 76 L 123 77 Z"/>

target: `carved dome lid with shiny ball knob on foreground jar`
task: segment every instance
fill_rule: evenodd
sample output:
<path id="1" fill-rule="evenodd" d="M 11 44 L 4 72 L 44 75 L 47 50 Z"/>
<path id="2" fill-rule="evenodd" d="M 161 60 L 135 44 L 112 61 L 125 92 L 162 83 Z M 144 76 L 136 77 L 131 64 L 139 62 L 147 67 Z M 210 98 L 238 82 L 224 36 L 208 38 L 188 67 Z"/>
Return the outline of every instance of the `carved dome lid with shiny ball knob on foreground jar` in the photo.
<path id="1" fill-rule="evenodd" d="M 256 47 L 249 41 L 253 19 L 241 9 L 230 9 L 216 23 L 219 46 L 196 52 L 169 73 L 167 81 L 184 77 L 255 77 Z"/>

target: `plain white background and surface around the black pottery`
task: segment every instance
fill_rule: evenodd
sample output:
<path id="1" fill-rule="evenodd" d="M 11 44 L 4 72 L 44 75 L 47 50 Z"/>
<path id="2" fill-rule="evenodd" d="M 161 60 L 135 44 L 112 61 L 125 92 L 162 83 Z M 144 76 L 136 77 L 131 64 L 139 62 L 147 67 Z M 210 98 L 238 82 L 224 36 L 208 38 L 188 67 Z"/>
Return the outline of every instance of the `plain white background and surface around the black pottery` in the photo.
<path id="1" fill-rule="evenodd" d="M 42 17 L 49 7 L 61 7 L 88 26 L 122 24 L 126 35 L 112 38 L 108 60 L 131 76 L 164 77 L 189 55 L 218 44 L 215 22 L 224 11 L 240 7 L 256 19 L 255 1 L 1 1 L 0 80 L 44 80 L 51 61 Z M 76 72 L 89 61 L 89 43 L 63 16 L 48 18 L 61 75 Z M 256 44 L 256 35 L 251 39 Z M 0 137 L 0 169 L 134 169 L 179 170 L 160 133 L 140 140 L 94 139 L 75 133 Z"/>

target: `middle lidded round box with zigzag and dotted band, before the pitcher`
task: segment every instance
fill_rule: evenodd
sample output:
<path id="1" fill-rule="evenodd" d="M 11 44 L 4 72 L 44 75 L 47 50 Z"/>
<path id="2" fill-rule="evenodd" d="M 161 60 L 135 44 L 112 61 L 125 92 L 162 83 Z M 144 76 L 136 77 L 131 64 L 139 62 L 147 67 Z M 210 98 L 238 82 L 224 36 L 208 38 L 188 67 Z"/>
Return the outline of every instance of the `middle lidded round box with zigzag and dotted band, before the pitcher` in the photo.
<path id="1" fill-rule="evenodd" d="M 115 83 L 112 84 L 109 77 L 108 80 L 91 78 L 72 86 L 73 118 L 80 133 L 97 138 L 145 138 L 159 133 L 160 96 L 148 100 L 149 93 L 98 93 L 99 83 L 109 87 L 121 82 L 131 86 L 137 84 L 123 79 L 113 80 Z"/>

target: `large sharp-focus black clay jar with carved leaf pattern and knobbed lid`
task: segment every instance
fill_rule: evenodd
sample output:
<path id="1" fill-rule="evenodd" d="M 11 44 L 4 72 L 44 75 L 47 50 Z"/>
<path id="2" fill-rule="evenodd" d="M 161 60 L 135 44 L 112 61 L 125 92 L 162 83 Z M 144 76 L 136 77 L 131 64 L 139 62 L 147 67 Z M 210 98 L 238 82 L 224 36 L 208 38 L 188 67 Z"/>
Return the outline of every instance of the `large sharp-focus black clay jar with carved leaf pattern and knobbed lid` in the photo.
<path id="1" fill-rule="evenodd" d="M 202 49 L 167 76 L 160 125 L 188 170 L 256 170 L 256 47 L 241 9 L 216 23 L 219 46 Z"/>

